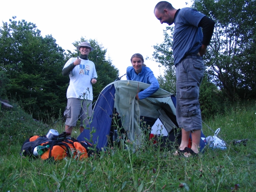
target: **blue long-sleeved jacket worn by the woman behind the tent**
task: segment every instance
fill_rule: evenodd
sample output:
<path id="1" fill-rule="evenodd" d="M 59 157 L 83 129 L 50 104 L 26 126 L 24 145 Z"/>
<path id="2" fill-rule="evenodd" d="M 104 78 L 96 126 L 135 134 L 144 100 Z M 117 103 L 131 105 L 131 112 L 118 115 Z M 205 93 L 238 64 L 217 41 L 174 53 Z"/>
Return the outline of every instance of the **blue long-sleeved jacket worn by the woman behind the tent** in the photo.
<path id="1" fill-rule="evenodd" d="M 142 92 L 139 92 L 138 95 L 140 99 L 144 99 L 151 96 L 159 88 L 158 80 L 154 76 L 152 70 L 148 67 L 142 66 L 141 72 L 137 75 L 136 72 L 134 71 L 134 68 L 130 66 L 126 69 L 126 78 L 127 80 L 139 81 L 150 84 L 148 88 L 146 88 Z"/>

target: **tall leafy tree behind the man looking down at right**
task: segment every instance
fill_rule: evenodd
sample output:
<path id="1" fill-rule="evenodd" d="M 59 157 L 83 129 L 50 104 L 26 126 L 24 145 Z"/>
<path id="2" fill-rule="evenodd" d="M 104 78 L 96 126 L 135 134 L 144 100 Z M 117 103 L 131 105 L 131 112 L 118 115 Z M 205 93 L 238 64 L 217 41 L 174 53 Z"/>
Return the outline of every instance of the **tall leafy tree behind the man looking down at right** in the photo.
<path id="1" fill-rule="evenodd" d="M 231 101 L 255 98 L 256 1 L 194 0 L 192 7 L 216 22 L 204 56 L 206 76 L 200 88 L 202 115 L 221 112 L 218 106 L 225 101 L 224 96 Z M 174 81 L 173 30 L 166 27 L 164 42 L 154 46 L 153 54 L 153 59 L 167 68 L 164 76 L 158 79 L 160 86 L 166 89 Z"/>

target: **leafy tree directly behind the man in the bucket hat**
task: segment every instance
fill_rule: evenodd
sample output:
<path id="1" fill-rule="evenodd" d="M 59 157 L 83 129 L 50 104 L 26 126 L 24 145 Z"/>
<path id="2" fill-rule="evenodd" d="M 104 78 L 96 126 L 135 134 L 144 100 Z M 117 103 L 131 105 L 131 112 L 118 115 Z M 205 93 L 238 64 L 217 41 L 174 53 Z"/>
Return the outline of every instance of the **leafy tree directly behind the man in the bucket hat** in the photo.
<path id="1" fill-rule="evenodd" d="M 110 58 L 108 58 L 108 60 L 106 59 L 107 50 L 104 49 L 102 44 L 99 44 L 96 40 L 86 40 L 84 37 L 82 37 L 80 41 L 74 42 L 73 45 L 76 47 L 84 41 L 90 42 L 90 45 L 94 48 L 94 50 L 90 52 L 88 59 L 94 62 L 98 75 L 97 83 L 93 84 L 93 96 L 94 101 L 96 101 L 98 98 L 97 96 L 100 94 L 102 89 L 118 78 L 119 70 L 112 65 Z M 76 57 L 78 52 L 77 50 L 75 51 L 76 52 L 69 51 L 69 57 Z"/>

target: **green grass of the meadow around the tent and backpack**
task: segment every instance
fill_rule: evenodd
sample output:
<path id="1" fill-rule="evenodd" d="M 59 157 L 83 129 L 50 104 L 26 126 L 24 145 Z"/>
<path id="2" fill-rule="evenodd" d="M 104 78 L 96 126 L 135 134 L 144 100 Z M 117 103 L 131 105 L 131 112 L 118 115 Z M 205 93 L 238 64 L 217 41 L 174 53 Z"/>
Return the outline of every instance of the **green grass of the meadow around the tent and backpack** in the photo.
<path id="1" fill-rule="evenodd" d="M 53 122 L 49 120 L 49 124 Z M 43 130 L 46 124 L 33 120 L 20 108 L 1 109 L 0 192 L 255 191 L 256 102 L 227 106 L 225 114 L 204 123 L 206 136 L 221 128 L 218 136 L 227 142 L 227 150 L 206 147 L 199 158 L 184 158 L 147 144 L 133 153 L 132 144 L 121 140 L 120 148 L 108 148 L 98 157 L 48 163 L 22 158 L 22 143 L 32 135 L 46 134 L 50 128 L 64 131 L 63 122 Z M 78 132 L 75 128 L 72 135 Z M 232 140 L 245 138 L 246 146 L 233 146 Z"/>

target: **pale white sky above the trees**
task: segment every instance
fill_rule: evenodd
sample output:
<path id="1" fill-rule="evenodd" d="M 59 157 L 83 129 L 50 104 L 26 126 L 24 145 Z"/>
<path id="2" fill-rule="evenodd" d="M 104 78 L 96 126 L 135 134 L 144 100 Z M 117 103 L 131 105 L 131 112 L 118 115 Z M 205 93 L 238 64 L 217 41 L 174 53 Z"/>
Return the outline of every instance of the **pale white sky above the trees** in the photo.
<path id="1" fill-rule="evenodd" d="M 26 20 L 36 24 L 41 35 L 52 35 L 64 50 L 74 51 L 73 42 L 81 37 L 95 39 L 107 49 L 106 58 L 118 68 L 120 76 L 131 66 L 130 58 L 135 53 L 152 58 L 153 46 L 164 40 L 163 30 L 154 16 L 154 7 L 159 0 L 3 0 L 0 21 Z M 190 0 L 169 1 L 176 9 L 190 7 Z M 186 2 L 188 4 L 186 4 Z M 1 27 L 2 27 L 1 22 Z M 164 68 L 152 59 L 145 60 L 157 77 Z M 64 66 L 64 64 L 63 64 Z M 125 80 L 126 76 L 122 78 Z"/>

